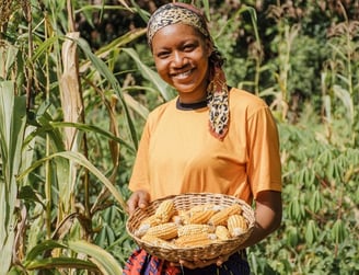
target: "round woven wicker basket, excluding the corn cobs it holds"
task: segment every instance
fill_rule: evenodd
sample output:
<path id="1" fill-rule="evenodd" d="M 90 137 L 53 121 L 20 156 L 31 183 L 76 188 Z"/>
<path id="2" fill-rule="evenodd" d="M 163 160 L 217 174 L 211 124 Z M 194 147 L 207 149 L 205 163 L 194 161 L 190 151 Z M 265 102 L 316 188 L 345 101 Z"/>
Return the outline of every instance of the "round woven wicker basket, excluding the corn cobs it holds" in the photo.
<path id="1" fill-rule="evenodd" d="M 135 234 L 136 230 L 140 226 L 140 222 L 147 217 L 153 215 L 161 202 L 170 198 L 174 200 L 175 207 L 178 210 L 187 210 L 193 206 L 202 204 L 216 204 L 221 206 L 230 206 L 234 203 L 240 204 L 243 209 L 242 215 L 248 222 L 248 230 L 236 238 L 231 238 L 228 241 L 218 241 L 208 245 L 185 249 L 155 247 L 153 244 L 142 241 Z M 222 194 L 188 193 L 176 196 L 167 196 L 161 199 L 153 200 L 146 209 L 137 208 L 135 213 L 128 218 L 126 229 L 129 236 L 136 241 L 136 243 L 140 248 L 144 249 L 149 254 L 170 262 L 178 262 L 180 259 L 185 261 L 193 261 L 194 259 L 210 260 L 220 255 L 234 253 L 252 233 L 254 222 L 254 210 L 242 199 Z"/>

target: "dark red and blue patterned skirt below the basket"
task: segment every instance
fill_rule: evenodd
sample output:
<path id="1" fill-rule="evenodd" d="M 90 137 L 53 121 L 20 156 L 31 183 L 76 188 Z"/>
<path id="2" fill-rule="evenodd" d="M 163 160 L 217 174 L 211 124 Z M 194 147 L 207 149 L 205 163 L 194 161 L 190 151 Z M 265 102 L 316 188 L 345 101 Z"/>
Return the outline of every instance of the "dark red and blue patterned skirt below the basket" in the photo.
<path id="1" fill-rule="evenodd" d="M 138 249 L 127 260 L 123 275 L 250 275 L 250 273 L 244 250 L 231 255 L 221 266 L 212 264 L 202 268 L 189 270 L 172 266 L 169 262 Z"/>

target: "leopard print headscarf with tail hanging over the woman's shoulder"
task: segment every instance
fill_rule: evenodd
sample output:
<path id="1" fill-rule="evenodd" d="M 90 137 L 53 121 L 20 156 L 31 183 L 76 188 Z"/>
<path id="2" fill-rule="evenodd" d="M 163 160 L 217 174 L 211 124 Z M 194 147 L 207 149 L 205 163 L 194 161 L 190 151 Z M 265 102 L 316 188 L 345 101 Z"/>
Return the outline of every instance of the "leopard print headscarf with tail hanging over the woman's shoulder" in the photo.
<path id="1" fill-rule="evenodd" d="M 150 18 L 147 28 L 147 37 L 152 48 L 152 39 L 158 31 L 172 24 L 187 24 L 198 30 L 205 37 L 212 42 L 206 19 L 194 5 L 185 3 L 169 3 L 160 7 Z M 216 48 L 213 46 L 213 48 Z M 218 53 L 216 50 L 216 53 Z M 229 94 L 222 62 L 218 58 L 209 57 L 210 72 L 207 87 L 207 105 L 209 107 L 209 130 L 218 139 L 222 140 L 229 127 Z"/>

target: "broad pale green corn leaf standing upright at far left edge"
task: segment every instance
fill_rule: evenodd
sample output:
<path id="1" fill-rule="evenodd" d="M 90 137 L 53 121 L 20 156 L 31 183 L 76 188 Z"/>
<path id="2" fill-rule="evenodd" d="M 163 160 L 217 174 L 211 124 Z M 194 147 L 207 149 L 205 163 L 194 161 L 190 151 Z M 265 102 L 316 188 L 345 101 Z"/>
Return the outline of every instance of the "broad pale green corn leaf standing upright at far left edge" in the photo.
<path id="1" fill-rule="evenodd" d="M 7 274 L 12 259 L 15 230 L 15 175 L 26 123 L 26 99 L 14 95 L 12 81 L 0 81 L 0 274 Z"/>

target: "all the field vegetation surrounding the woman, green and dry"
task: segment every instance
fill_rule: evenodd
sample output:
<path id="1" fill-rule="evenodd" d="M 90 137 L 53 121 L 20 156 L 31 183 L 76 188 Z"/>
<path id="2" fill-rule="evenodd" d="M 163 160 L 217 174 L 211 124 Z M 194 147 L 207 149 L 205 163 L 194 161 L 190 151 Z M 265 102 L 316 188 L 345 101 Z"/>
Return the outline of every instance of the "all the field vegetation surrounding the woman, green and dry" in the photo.
<path id="1" fill-rule="evenodd" d="M 144 35 L 165 2 L 0 1 L 0 274 L 120 274 L 138 139 L 175 95 Z M 358 2 L 193 2 L 278 122 L 285 216 L 253 274 L 357 274 Z"/>

